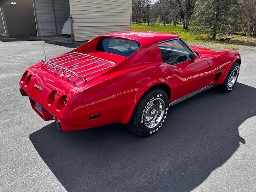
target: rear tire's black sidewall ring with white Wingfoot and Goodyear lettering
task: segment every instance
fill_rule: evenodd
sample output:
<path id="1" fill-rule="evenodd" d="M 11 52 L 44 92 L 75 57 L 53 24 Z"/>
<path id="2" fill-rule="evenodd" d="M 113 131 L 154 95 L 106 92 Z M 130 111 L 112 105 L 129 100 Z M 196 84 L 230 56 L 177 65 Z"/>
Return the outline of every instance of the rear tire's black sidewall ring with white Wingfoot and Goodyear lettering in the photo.
<path id="1" fill-rule="evenodd" d="M 149 106 L 150 102 L 156 98 L 160 98 L 164 101 L 164 104 L 165 104 L 164 116 L 162 117 L 162 120 L 159 122 L 157 126 L 155 126 L 152 129 L 149 129 L 144 124 L 144 115 L 145 115 L 146 108 Z M 166 92 L 164 92 L 163 90 L 157 89 L 150 92 L 150 94 L 142 102 L 141 108 L 138 113 L 139 116 L 138 116 L 137 123 L 138 123 L 138 128 L 140 132 L 142 132 L 146 136 L 152 135 L 152 134 L 155 134 L 163 126 L 163 123 L 165 122 L 166 116 L 168 114 L 168 105 L 169 105 L 168 102 L 169 102 L 168 96 Z"/>

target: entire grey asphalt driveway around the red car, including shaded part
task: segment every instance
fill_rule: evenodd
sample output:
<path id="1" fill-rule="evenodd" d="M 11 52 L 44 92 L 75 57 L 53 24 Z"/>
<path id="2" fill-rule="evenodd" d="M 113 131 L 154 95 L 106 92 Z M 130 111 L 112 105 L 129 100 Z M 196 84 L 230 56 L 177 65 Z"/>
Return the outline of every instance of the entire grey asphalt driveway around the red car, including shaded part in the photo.
<path id="1" fill-rule="evenodd" d="M 71 50 L 45 44 L 46 57 Z M 0 191 L 256 191 L 256 50 L 242 56 L 236 88 L 170 108 L 158 134 L 124 125 L 58 132 L 19 92 L 44 58 L 40 41 L 0 41 Z"/>

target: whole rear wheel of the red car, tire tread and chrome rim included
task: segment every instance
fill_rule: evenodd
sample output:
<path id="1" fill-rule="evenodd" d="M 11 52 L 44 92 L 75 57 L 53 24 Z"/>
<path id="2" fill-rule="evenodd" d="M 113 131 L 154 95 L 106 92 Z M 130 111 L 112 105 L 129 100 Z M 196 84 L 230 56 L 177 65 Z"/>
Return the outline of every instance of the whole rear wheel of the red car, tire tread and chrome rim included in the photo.
<path id="1" fill-rule="evenodd" d="M 162 89 L 151 90 L 138 102 L 128 129 L 141 137 L 155 134 L 163 125 L 168 113 L 168 96 Z"/>

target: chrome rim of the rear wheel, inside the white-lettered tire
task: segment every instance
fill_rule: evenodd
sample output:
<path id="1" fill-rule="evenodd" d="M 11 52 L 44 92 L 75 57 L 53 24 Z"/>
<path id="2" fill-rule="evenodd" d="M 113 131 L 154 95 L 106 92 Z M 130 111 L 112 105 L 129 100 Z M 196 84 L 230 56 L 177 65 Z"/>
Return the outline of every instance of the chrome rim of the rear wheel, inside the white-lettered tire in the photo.
<path id="1" fill-rule="evenodd" d="M 165 104 L 161 98 L 152 100 L 145 110 L 144 124 L 148 129 L 156 127 L 164 116 Z"/>

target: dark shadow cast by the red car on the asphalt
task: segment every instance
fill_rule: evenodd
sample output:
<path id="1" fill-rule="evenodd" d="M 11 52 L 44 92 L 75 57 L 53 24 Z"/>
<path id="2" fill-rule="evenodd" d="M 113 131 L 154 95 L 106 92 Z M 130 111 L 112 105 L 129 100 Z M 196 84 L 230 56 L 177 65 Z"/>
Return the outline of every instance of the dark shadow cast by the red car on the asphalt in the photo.
<path id="1" fill-rule="evenodd" d="M 245 144 L 238 127 L 256 115 L 255 96 L 240 83 L 228 94 L 207 90 L 170 107 L 149 138 L 120 124 L 58 132 L 51 123 L 30 140 L 68 191 L 189 192 Z"/>

